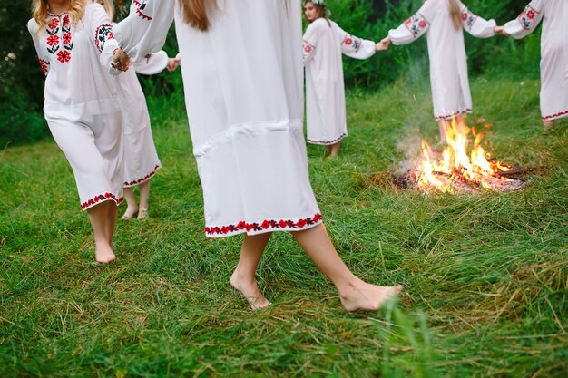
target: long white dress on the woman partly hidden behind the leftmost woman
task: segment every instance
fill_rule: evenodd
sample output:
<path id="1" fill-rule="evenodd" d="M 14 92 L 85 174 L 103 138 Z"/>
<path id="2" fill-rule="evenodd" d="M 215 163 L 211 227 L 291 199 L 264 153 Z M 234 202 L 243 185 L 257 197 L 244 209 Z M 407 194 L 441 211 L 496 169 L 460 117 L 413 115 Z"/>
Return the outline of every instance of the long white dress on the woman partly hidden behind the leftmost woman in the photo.
<path id="1" fill-rule="evenodd" d="M 134 187 L 152 179 L 162 168 L 152 138 L 150 115 L 146 98 L 136 73 L 160 73 L 168 64 L 167 53 L 152 53 L 140 62 L 132 64 L 119 76 L 124 130 L 124 187 Z"/>

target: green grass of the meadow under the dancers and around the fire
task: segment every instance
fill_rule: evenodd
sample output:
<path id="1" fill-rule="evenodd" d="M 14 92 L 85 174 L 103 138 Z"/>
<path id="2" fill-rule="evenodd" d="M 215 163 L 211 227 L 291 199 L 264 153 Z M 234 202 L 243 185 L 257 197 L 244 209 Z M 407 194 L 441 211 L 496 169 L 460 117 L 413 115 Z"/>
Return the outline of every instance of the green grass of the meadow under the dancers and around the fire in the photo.
<path id="1" fill-rule="evenodd" d="M 568 364 L 568 136 L 541 131 L 538 82 L 472 80 L 488 150 L 534 167 L 515 193 L 425 197 L 393 188 L 401 146 L 436 139 L 426 84 L 348 94 L 337 160 L 308 147 L 328 232 L 358 276 L 401 282 L 399 303 L 348 314 L 289 234 L 251 313 L 229 286 L 240 237 L 203 235 L 178 105 L 151 102 L 164 168 L 151 218 L 119 222 L 118 260 L 93 261 L 89 222 L 53 142 L 0 151 L 2 377 L 564 377 Z M 485 121 L 480 120 L 484 118 Z M 123 210 L 123 207 L 121 208 Z"/>

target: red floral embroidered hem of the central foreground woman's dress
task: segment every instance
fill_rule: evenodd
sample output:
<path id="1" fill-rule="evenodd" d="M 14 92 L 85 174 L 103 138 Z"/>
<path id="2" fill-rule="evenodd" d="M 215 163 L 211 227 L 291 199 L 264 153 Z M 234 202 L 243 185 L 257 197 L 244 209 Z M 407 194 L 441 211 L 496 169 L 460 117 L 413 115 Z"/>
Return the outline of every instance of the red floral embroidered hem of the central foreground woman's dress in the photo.
<path id="1" fill-rule="evenodd" d="M 247 233 L 247 235 L 258 235 L 264 234 L 266 232 L 273 231 L 300 231 L 308 228 L 314 228 L 322 222 L 322 217 L 320 213 L 316 213 L 313 217 L 298 218 L 297 220 L 268 220 L 265 219 L 261 223 L 253 222 L 248 223 L 241 220 L 237 225 L 225 225 L 225 226 L 205 226 L 205 236 L 206 237 L 232 237 L 234 235 L 239 235 L 242 233 Z"/>

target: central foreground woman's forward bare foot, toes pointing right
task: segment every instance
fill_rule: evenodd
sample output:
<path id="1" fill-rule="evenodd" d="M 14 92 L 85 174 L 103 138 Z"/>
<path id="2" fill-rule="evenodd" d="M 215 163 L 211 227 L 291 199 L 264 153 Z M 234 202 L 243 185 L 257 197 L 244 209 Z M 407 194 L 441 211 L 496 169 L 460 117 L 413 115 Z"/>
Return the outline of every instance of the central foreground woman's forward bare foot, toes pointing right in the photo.
<path id="1" fill-rule="evenodd" d="M 387 300 L 396 297 L 402 285 L 376 286 L 358 281 L 339 292 L 341 305 L 348 311 L 377 311 Z"/>

